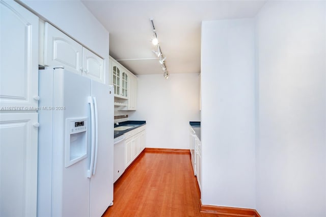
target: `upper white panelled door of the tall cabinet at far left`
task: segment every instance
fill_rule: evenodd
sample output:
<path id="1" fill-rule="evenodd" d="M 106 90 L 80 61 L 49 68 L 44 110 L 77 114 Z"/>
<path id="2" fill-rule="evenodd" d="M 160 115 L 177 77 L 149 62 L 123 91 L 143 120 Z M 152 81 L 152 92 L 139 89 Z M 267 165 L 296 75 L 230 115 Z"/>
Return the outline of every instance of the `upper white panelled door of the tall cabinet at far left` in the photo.
<path id="1" fill-rule="evenodd" d="M 37 107 L 39 19 L 14 1 L 1 1 L 0 20 L 1 106 Z"/>

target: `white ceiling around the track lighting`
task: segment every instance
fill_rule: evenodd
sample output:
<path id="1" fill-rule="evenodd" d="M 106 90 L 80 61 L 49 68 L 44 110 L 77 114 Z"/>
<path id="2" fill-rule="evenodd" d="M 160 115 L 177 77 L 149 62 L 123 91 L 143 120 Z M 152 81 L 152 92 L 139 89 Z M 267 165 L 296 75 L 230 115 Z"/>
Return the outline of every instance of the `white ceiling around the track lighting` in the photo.
<path id="1" fill-rule="evenodd" d="M 265 0 L 82 2 L 110 32 L 110 56 L 134 74 L 163 73 L 150 42 L 153 18 L 171 74 L 200 72 L 201 21 L 253 17 Z"/>

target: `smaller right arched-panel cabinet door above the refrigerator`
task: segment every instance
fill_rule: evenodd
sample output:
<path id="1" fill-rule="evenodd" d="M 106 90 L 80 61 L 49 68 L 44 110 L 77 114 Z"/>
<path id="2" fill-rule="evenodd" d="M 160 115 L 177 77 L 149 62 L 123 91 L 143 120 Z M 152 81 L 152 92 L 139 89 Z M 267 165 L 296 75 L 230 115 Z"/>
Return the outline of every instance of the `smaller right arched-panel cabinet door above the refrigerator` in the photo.
<path id="1" fill-rule="evenodd" d="M 104 84 L 104 60 L 83 47 L 83 75 Z"/>

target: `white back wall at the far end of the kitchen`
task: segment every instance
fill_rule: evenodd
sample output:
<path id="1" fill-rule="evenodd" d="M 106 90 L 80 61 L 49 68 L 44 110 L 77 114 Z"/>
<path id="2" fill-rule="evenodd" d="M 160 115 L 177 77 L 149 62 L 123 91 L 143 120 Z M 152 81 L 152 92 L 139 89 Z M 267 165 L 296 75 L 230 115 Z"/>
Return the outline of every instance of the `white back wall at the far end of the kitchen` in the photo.
<path id="1" fill-rule="evenodd" d="M 137 111 L 146 121 L 146 147 L 188 149 L 189 121 L 200 121 L 199 74 L 138 75 Z"/>

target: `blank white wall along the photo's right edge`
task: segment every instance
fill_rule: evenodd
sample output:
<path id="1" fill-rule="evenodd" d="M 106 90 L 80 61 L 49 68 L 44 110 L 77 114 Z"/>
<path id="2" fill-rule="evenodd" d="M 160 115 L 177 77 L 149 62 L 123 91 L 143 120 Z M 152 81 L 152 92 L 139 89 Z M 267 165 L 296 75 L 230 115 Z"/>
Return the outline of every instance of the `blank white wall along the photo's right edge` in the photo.
<path id="1" fill-rule="evenodd" d="M 256 36 L 256 208 L 325 216 L 325 2 L 267 2 Z"/>

